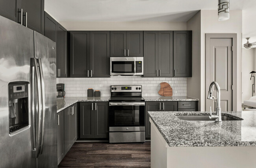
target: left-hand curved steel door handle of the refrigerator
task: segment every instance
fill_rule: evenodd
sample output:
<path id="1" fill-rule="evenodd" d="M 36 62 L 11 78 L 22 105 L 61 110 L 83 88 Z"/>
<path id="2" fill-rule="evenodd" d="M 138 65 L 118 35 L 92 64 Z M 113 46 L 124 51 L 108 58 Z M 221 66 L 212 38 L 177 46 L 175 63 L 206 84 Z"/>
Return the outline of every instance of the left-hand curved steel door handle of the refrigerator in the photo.
<path id="1" fill-rule="evenodd" d="M 35 157 L 37 158 L 40 153 L 40 147 L 41 147 L 41 132 L 42 132 L 42 95 L 41 95 L 41 81 L 40 81 L 40 74 L 39 74 L 39 68 L 38 68 L 38 62 L 37 58 L 32 58 L 34 63 L 34 69 L 35 69 L 35 105 L 36 105 L 36 147 L 34 149 L 35 151 Z"/>

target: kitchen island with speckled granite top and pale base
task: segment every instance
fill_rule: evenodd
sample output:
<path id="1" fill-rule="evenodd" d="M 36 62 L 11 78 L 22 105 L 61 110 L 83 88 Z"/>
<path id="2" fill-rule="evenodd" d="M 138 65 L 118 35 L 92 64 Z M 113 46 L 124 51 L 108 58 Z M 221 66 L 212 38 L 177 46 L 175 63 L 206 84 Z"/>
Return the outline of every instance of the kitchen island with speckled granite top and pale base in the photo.
<path id="1" fill-rule="evenodd" d="M 223 112 L 237 120 L 187 121 L 176 116 L 207 112 L 148 112 L 151 167 L 256 167 L 256 112 Z M 241 120 L 243 119 L 243 120 Z"/>

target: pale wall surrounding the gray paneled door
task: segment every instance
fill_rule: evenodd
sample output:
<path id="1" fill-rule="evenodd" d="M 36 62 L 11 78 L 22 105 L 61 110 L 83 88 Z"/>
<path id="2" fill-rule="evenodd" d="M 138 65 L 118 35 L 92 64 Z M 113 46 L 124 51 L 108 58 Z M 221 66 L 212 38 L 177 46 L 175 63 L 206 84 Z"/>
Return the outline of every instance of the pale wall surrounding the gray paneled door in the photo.
<path id="1" fill-rule="evenodd" d="M 233 92 L 233 100 L 236 107 L 234 111 L 241 110 L 242 103 L 242 11 L 230 10 L 230 19 L 218 21 L 217 10 L 201 10 L 201 110 L 205 110 L 206 83 L 205 83 L 205 34 L 206 33 L 237 33 L 237 57 L 233 57 L 233 85 L 236 87 Z"/>

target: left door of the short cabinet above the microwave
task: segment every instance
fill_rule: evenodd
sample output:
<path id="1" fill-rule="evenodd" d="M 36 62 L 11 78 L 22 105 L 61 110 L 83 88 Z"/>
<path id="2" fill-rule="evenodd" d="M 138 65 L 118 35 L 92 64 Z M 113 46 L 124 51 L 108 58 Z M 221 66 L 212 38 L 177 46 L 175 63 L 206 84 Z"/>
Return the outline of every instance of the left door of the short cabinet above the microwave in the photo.
<path id="1" fill-rule="evenodd" d="M 126 31 L 110 31 L 110 57 L 124 56 L 127 56 Z"/>

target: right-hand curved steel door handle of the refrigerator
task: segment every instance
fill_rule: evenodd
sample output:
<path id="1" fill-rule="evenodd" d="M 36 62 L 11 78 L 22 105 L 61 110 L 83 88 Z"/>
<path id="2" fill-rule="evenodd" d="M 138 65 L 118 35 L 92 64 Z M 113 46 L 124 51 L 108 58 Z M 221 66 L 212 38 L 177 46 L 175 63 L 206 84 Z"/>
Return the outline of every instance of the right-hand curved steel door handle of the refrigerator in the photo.
<path id="1" fill-rule="evenodd" d="M 44 139 L 45 139 L 45 81 L 44 81 L 44 74 L 43 74 L 43 66 L 41 58 L 38 58 L 39 61 L 39 74 L 40 74 L 40 80 L 41 80 L 41 96 L 42 96 L 42 139 L 41 139 L 41 149 L 40 153 L 43 153 L 43 145 L 44 145 Z M 59 70 L 60 71 L 60 70 Z"/>

